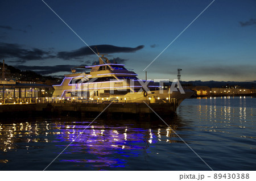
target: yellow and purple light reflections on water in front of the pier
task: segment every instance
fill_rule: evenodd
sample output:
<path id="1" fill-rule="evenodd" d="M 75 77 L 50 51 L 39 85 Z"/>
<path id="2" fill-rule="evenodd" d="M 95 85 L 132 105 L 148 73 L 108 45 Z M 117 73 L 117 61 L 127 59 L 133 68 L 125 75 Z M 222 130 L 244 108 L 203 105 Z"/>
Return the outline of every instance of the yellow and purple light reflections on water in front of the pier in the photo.
<path id="1" fill-rule="evenodd" d="M 60 162 L 75 162 L 93 166 L 113 166 L 123 167 L 126 163 L 120 159 L 113 159 L 113 154 L 121 154 L 123 157 L 137 157 L 139 150 L 147 150 L 150 145 L 158 142 L 168 144 L 177 142 L 174 132 L 163 125 L 162 122 L 151 123 L 142 121 L 138 123 L 133 120 L 119 121 L 113 124 L 106 121 L 94 121 L 94 125 L 87 125 L 90 121 L 65 121 L 38 120 L 24 121 L 22 123 L 0 124 L 0 150 L 5 152 L 26 150 L 27 154 L 32 154 L 36 148 L 42 148 L 47 144 L 55 143 L 53 157 L 60 153 L 65 146 L 74 141 L 69 149 L 61 154 Z M 159 124 L 160 123 L 160 124 Z M 167 122 L 168 123 L 168 122 Z M 118 124 L 118 126 L 117 126 Z M 170 127 L 177 131 L 182 129 L 179 119 L 175 119 Z M 85 129 L 84 132 L 82 132 Z M 77 137 L 80 134 L 79 137 Z M 77 138 L 76 138 L 77 137 Z M 75 140 L 76 138 L 76 140 Z M 35 143 L 38 143 L 35 145 Z M 86 159 L 65 159 L 65 155 L 75 154 L 88 155 Z M 92 157 L 96 155 L 96 157 Z M 84 156 L 83 156 L 84 157 Z M 76 156 L 75 156 L 76 158 Z M 5 159 L 0 159 L 0 163 L 8 163 Z"/>

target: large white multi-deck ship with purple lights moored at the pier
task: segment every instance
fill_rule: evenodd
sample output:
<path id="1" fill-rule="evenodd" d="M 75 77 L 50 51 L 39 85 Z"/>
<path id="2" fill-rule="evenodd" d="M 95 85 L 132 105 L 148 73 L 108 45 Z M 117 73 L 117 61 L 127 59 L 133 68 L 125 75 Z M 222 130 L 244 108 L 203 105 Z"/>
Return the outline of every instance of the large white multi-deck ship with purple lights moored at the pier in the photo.
<path id="1" fill-rule="evenodd" d="M 106 54 L 98 54 L 99 64 L 72 68 L 60 85 L 54 85 L 53 97 L 90 102 L 168 103 L 177 106 L 192 95 L 191 90 L 170 91 L 171 86 L 137 78 L 133 69 L 111 63 Z M 101 57 L 100 57 L 101 56 Z M 81 72 L 77 72 L 82 70 Z"/>

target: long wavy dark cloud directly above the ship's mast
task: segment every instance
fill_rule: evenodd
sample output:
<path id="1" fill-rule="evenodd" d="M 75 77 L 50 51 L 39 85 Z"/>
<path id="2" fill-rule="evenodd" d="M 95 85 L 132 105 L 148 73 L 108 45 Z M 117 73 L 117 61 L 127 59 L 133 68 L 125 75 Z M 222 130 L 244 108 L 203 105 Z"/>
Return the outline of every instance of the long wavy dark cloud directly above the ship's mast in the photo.
<path id="1" fill-rule="evenodd" d="M 131 53 L 131 52 L 136 52 L 137 50 L 140 50 L 144 48 L 144 45 L 140 45 L 135 48 L 131 47 L 116 47 L 114 45 L 92 45 L 90 48 L 94 50 L 94 52 L 97 52 L 96 46 L 98 49 L 98 52 L 100 53 Z M 94 54 L 93 51 L 89 47 L 82 47 L 80 49 L 72 50 L 72 51 L 67 51 L 67 52 L 59 52 L 57 53 L 57 57 L 62 58 L 64 60 L 68 60 L 71 58 L 79 58 L 82 56 L 87 56 Z"/>

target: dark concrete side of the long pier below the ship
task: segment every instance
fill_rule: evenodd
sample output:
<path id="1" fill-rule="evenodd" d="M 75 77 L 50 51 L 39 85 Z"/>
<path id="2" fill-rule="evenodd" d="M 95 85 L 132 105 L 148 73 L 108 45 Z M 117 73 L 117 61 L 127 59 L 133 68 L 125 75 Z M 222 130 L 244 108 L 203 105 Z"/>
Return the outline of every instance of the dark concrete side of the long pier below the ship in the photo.
<path id="1" fill-rule="evenodd" d="M 42 103 L 42 104 L 2 104 L 1 117 L 12 116 L 85 116 L 96 117 L 110 103 Z M 175 103 L 148 104 L 159 115 L 173 115 L 176 112 Z M 112 103 L 102 113 L 104 117 L 117 116 L 120 119 L 133 115 L 133 117 L 150 117 L 155 115 L 145 103 Z"/>

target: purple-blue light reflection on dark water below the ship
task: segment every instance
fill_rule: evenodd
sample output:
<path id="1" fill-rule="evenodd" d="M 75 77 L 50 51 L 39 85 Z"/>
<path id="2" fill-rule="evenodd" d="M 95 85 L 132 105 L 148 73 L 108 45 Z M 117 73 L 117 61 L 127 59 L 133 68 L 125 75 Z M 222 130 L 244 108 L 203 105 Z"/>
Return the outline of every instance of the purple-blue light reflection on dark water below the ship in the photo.
<path id="1" fill-rule="evenodd" d="M 68 128 L 68 129 L 67 129 Z M 86 126 L 77 126 L 71 128 L 69 125 L 62 128 L 61 135 L 57 135 L 58 142 L 71 142 L 79 135 Z M 147 135 L 145 137 L 145 135 Z M 157 142 L 154 134 L 147 129 L 136 128 L 105 128 L 102 126 L 91 126 L 85 129 L 77 139 L 63 152 L 65 154 L 93 154 L 94 159 L 61 159 L 60 162 L 84 163 L 84 165 L 92 165 L 93 167 L 125 167 L 127 161 L 125 159 L 114 158 L 114 154 L 120 154 L 122 157 L 138 157 L 139 150 L 145 150 L 148 144 L 145 144 L 145 138 L 152 140 L 150 143 Z M 142 146 L 143 145 L 143 146 Z M 63 148 L 63 145 L 59 145 Z M 74 156 L 75 157 L 75 156 Z M 86 157 L 86 155 L 85 155 Z"/>

